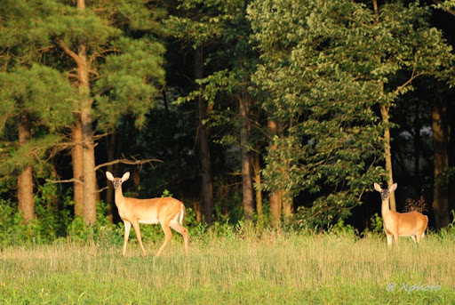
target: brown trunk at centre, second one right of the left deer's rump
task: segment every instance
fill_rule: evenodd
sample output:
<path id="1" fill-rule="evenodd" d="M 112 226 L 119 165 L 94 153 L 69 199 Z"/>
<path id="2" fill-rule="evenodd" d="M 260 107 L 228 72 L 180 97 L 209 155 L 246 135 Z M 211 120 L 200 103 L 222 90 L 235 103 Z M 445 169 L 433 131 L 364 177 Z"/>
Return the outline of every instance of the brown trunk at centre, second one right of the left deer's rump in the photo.
<path id="1" fill-rule="evenodd" d="M 239 98 L 239 108 L 242 124 L 240 127 L 240 145 L 242 147 L 242 189 L 243 189 L 243 213 L 245 221 L 251 221 L 254 212 L 252 174 L 251 174 L 251 156 L 249 151 L 250 141 L 250 100 L 247 94 L 242 94 Z"/>

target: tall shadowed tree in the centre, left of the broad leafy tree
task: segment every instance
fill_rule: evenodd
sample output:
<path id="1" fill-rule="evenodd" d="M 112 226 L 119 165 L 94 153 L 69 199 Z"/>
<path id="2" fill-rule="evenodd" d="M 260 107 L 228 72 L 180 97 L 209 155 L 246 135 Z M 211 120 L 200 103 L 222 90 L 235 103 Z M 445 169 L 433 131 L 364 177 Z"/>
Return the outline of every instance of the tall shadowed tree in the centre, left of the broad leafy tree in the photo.
<path id="1" fill-rule="evenodd" d="M 216 122 L 212 120 L 212 124 L 234 127 L 234 130 L 229 130 L 220 142 L 224 145 L 240 146 L 243 214 L 247 221 L 251 221 L 254 213 L 251 120 L 255 100 L 251 94 L 251 75 L 257 56 L 251 44 L 248 43 L 251 26 L 245 19 L 245 13 L 249 3 L 249 1 L 233 0 L 216 5 L 200 5 L 198 1 L 186 1 L 183 2 L 183 6 L 187 5 L 185 6 L 187 9 L 200 12 L 203 17 L 199 16 L 192 21 L 184 19 L 176 22 L 180 28 L 185 28 L 185 33 L 191 33 L 191 36 L 195 33 L 199 34 L 194 38 L 195 44 L 203 40 L 204 44 L 216 44 L 215 50 L 206 56 L 213 72 L 208 72 L 208 76 L 205 77 L 199 73 L 196 81 L 200 87 L 188 96 L 198 99 L 199 103 L 201 99 L 207 100 L 211 108 L 212 105 L 220 105 L 225 101 L 224 108 L 219 108 L 217 120 Z M 198 52 L 200 47 L 195 45 L 195 48 Z M 236 109 L 237 115 L 234 117 L 231 108 Z M 205 121 L 207 117 L 203 116 L 203 118 Z M 234 124 L 229 120 L 232 118 L 235 120 Z M 200 138 L 201 134 L 204 134 L 204 126 L 200 125 L 198 132 Z M 201 163 L 204 167 L 202 160 Z M 259 173 L 256 177 L 259 177 L 256 181 L 260 184 Z M 260 194 L 260 190 L 257 190 L 257 194 Z M 257 205 L 261 211 L 260 195 L 257 198 Z"/>

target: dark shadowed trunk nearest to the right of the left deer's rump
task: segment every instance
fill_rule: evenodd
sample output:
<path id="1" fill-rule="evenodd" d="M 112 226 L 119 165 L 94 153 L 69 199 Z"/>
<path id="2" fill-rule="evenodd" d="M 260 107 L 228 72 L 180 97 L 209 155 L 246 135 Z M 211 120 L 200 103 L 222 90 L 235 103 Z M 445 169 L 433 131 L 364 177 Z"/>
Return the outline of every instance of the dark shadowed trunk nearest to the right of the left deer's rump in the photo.
<path id="1" fill-rule="evenodd" d="M 203 50 L 202 47 L 197 47 L 195 52 L 195 78 L 201 79 L 204 77 L 204 61 L 203 61 Z M 202 175 L 202 198 L 204 205 L 204 218 L 205 222 L 212 224 L 213 217 L 213 182 L 212 182 L 212 168 L 211 168 L 211 156 L 209 147 L 209 131 L 207 125 L 204 123 L 210 113 L 212 112 L 212 106 L 207 105 L 207 102 L 199 96 L 197 98 L 198 106 L 198 132 L 197 140 L 199 144 L 199 161 L 201 163 L 201 175 Z"/>

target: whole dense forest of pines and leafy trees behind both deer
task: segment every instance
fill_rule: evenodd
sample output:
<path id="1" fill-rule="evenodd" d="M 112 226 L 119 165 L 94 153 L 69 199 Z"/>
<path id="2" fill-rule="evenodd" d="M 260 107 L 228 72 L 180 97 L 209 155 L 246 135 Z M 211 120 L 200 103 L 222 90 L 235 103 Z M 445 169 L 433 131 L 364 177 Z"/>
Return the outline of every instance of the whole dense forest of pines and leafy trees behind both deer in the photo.
<path id="1" fill-rule="evenodd" d="M 453 28 L 453 0 L 4 0 L 0 227 L 116 224 L 109 171 L 195 224 L 362 232 L 396 182 L 444 228 Z"/>

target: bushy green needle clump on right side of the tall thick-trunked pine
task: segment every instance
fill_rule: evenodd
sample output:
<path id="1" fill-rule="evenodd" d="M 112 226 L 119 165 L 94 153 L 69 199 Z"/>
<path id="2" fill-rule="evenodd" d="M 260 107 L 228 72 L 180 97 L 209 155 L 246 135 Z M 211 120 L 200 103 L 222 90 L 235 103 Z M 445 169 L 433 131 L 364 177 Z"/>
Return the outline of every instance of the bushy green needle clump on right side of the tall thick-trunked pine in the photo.
<path id="1" fill-rule="evenodd" d="M 121 37 L 111 43 L 118 53 L 109 55 L 100 66 L 98 95 L 100 126 L 116 127 L 122 116 L 132 116 L 136 127 L 143 127 L 153 108 L 159 87 L 164 85 L 163 44 L 145 39 Z"/>

